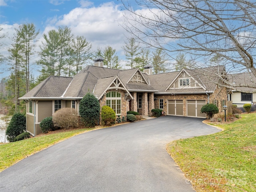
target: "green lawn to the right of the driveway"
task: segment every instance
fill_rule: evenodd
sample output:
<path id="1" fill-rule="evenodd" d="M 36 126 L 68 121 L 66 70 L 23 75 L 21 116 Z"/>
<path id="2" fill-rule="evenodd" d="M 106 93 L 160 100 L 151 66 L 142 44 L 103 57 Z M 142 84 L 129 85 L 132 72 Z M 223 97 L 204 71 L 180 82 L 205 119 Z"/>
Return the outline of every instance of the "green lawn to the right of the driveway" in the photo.
<path id="1" fill-rule="evenodd" d="M 242 114 L 224 131 L 167 146 L 197 192 L 256 192 L 256 113 Z"/>

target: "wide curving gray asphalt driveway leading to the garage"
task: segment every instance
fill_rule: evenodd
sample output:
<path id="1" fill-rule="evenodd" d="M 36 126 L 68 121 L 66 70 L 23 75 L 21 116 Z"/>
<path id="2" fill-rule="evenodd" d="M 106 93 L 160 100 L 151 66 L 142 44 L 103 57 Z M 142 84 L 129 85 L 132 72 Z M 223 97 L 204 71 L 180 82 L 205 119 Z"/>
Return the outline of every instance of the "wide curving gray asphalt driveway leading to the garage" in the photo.
<path id="1" fill-rule="evenodd" d="M 0 173 L 1 192 L 194 192 L 166 152 L 172 140 L 219 132 L 164 116 L 74 136 Z"/>

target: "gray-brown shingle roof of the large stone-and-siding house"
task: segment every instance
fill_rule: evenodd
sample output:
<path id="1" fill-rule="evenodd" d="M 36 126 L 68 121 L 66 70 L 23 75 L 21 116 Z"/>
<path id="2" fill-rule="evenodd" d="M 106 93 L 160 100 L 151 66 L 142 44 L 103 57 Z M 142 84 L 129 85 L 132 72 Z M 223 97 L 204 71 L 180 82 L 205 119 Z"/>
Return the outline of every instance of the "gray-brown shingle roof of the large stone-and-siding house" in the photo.
<path id="1" fill-rule="evenodd" d="M 142 73 L 148 84 L 142 82 L 128 82 L 137 70 L 138 69 L 136 68 L 130 70 L 116 70 L 87 66 L 73 78 L 50 76 L 30 92 L 22 96 L 21 99 L 82 98 L 87 92 L 93 92 L 96 97 L 100 97 L 117 76 L 120 78 L 124 86 L 126 86 L 130 91 L 140 92 L 144 90 L 148 92 L 165 92 L 166 94 L 214 91 L 216 87 L 214 82 L 218 80 L 218 76 L 214 75 L 210 68 L 204 68 L 203 70 L 186 69 L 186 72 L 188 72 L 205 88 L 175 88 L 166 90 L 170 83 L 178 77 L 180 72 L 169 72 L 154 75 Z"/>

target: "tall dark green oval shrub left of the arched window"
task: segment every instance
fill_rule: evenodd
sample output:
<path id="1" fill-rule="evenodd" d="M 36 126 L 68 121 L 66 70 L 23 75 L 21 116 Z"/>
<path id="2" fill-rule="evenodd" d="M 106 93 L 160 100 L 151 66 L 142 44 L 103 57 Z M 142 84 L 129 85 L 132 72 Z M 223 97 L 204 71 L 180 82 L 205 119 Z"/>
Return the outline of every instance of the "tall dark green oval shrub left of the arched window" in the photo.
<path id="1" fill-rule="evenodd" d="M 79 105 L 79 113 L 86 126 L 95 126 L 100 116 L 100 103 L 92 93 L 88 92 L 82 98 Z"/>

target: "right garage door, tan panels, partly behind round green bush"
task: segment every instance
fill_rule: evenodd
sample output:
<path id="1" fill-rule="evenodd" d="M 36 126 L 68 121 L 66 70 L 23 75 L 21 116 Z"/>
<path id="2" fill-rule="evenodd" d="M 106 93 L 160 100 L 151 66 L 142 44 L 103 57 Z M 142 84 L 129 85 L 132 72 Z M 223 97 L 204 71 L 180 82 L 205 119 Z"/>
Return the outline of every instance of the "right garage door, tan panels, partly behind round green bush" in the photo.
<path id="1" fill-rule="evenodd" d="M 201 113 L 205 100 L 187 100 L 187 116 L 206 118 L 205 113 Z"/>

